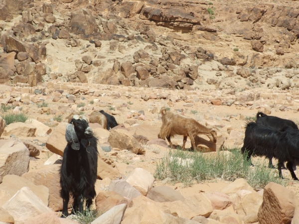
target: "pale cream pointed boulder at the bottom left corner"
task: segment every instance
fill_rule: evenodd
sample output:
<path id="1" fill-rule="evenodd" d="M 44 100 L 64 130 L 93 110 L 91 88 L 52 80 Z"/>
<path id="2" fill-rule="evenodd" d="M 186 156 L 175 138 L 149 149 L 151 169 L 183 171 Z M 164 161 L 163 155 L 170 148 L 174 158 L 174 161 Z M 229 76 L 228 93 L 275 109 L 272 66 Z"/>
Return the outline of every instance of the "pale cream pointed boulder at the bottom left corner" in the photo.
<path id="1" fill-rule="evenodd" d="M 32 192 L 23 187 L 3 206 L 16 224 L 24 224 L 28 218 L 38 216 L 51 210 Z"/>

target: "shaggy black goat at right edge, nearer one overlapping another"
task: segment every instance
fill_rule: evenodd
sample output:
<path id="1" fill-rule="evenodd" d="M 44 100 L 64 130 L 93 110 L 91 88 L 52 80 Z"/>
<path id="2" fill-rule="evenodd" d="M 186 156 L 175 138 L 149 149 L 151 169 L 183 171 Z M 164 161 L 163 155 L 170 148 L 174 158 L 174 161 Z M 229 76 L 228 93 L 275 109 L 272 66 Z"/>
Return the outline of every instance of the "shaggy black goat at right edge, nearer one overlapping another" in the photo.
<path id="1" fill-rule="evenodd" d="M 287 162 L 292 178 L 298 180 L 293 165 L 299 163 L 299 130 L 286 127 L 283 131 L 275 130 L 254 121 L 246 124 L 244 145 L 242 153 L 251 156 L 265 156 L 278 159 L 279 176 L 283 178 L 282 167 Z"/>

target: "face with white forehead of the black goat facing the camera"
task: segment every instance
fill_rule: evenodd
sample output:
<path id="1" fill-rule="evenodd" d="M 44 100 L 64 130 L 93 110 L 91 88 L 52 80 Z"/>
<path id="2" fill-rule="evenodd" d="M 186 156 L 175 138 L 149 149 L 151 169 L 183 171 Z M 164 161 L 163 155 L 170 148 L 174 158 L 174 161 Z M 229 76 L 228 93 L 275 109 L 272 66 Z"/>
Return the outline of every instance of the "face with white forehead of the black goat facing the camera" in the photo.
<path id="1" fill-rule="evenodd" d="M 88 125 L 88 120 L 85 116 L 74 115 L 71 123 L 73 123 L 76 135 L 79 139 L 90 139 L 93 137 L 93 131 Z"/>

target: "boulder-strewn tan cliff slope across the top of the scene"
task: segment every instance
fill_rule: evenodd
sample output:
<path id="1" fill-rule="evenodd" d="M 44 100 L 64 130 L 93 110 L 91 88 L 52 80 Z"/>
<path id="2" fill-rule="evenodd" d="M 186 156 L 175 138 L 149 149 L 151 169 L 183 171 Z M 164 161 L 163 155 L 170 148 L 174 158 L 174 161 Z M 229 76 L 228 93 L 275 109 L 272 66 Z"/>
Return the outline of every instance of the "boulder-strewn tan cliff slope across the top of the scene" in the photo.
<path id="1" fill-rule="evenodd" d="M 297 6 L 3 0 L 0 84 L 297 88 Z"/>

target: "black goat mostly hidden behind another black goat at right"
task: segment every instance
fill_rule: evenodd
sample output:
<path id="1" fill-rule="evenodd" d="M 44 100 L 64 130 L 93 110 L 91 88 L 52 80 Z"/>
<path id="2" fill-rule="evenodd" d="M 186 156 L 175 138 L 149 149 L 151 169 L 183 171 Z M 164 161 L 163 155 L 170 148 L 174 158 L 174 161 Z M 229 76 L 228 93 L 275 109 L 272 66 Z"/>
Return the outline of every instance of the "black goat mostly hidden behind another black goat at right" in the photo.
<path id="1" fill-rule="evenodd" d="M 297 124 L 288 119 L 283 119 L 277 116 L 268 116 L 263 112 L 257 113 L 257 124 L 264 125 L 266 127 L 273 128 L 275 130 L 284 130 L 286 127 L 292 127 L 294 129 L 298 129 Z M 269 158 L 269 168 L 275 168 L 272 164 L 272 157 Z M 285 167 L 284 167 L 285 168 Z"/>

